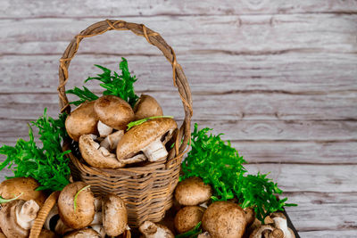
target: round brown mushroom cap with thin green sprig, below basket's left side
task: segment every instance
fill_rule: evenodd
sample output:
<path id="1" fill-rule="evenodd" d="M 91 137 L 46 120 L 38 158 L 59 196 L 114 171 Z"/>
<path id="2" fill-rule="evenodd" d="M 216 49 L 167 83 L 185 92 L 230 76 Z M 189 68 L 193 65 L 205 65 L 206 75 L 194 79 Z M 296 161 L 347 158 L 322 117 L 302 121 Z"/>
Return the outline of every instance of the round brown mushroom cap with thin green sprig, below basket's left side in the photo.
<path id="1" fill-rule="evenodd" d="M 58 211 L 63 223 L 73 229 L 88 226 L 95 217 L 95 196 L 89 188 L 77 196 L 77 208 L 74 210 L 74 197 L 80 189 L 87 186 L 83 182 L 66 185 L 58 198 Z"/>

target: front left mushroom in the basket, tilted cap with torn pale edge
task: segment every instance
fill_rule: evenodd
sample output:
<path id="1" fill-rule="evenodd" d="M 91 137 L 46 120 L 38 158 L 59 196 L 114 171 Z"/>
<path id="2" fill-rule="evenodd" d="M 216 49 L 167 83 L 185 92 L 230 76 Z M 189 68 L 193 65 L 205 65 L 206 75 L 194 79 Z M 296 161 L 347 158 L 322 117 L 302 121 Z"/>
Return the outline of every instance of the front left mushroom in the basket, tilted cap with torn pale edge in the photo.
<path id="1" fill-rule="evenodd" d="M 115 154 L 95 142 L 95 135 L 81 135 L 79 151 L 83 159 L 95 168 L 122 168 L 125 166 L 124 163 L 116 159 Z"/>

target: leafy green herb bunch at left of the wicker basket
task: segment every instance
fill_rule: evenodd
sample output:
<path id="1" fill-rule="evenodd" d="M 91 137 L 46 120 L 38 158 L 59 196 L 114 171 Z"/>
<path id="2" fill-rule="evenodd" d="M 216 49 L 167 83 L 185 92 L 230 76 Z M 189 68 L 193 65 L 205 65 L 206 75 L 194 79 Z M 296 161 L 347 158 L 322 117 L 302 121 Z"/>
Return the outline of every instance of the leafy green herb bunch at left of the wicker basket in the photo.
<path id="1" fill-rule="evenodd" d="M 33 177 L 40 186 L 37 190 L 60 191 L 69 184 L 71 170 L 69 160 L 62 152 L 62 140 L 66 136 L 64 127 L 66 115 L 60 115 L 59 119 L 44 115 L 32 121 L 32 126 L 38 128 L 39 140 L 43 146 L 37 147 L 32 127 L 29 127 L 29 141 L 19 139 L 15 146 L 3 145 L 0 154 L 7 156 L 0 165 L 0 170 L 8 165 L 12 168 L 12 177 Z"/>

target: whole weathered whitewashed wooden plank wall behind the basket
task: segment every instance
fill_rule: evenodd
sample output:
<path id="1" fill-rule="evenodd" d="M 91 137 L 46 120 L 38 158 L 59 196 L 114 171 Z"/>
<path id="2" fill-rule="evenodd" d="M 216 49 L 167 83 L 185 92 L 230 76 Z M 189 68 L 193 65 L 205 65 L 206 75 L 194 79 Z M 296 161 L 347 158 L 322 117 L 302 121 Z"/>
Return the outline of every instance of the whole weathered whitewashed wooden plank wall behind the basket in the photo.
<path id="1" fill-rule="evenodd" d="M 357 234 L 357 1 L 0 0 L 0 143 L 58 114 L 58 60 L 104 19 L 144 23 L 171 45 L 191 85 L 193 120 L 225 133 L 254 173 L 286 191 L 303 237 Z M 170 64 L 129 32 L 85 39 L 67 88 L 129 61 L 137 91 L 182 119 Z M 90 85 L 95 91 L 98 86 Z M 4 160 L 4 157 L 1 157 Z M 11 171 L 1 172 L 1 178 Z"/>

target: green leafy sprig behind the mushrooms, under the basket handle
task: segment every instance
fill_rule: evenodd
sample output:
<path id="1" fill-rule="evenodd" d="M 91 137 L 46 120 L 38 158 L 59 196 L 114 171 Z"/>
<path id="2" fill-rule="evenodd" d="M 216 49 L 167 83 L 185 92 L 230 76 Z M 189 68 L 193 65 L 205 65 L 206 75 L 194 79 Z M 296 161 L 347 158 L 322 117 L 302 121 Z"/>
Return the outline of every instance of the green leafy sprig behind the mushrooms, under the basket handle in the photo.
<path id="1" fill-rule="evenodd" d="M 121 75 L 117 72 L 112 72 L 103 66 L 95 64 L 95 67 L 103 70 L 102 74 L 98 74 L 97 77 L 89 77 L 84 82 L 90 80 L 99 80 L 102 83 L 100 86 L 103 86 L 106 90 L 103 92 L 104 95 L 116 95 L 121 99 L 128 102 L 131 107 L 134 107 L 135 103 L 137 103 L 138 96 L 134 92 L 133 84 L 137 81 L 136 76 L 131 76 L 128 68 L 128 62 L 125 58 L 121 58 L 121 62 L 119 64 L 119 69 L 121 70 Z M 94 101 L 98 98 L 95 94 L 93 94 L 87 87 L 83 86 L 83 89 L 75 87 L 74 89 L 67 90 L 67 94 L 75 94 L 79 97 L 78 101 L 71 102 L 71 104 L 75 104 L 78 106 L 81 103 L 86 101 Z"/>

